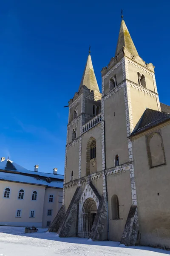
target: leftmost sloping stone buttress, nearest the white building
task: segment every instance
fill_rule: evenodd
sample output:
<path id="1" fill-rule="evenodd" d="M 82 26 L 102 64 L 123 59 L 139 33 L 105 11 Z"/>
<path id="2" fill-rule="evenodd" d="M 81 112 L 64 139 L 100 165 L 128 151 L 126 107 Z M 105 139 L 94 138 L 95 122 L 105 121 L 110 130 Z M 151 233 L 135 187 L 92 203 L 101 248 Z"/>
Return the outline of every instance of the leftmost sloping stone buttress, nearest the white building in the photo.
<path id="1" fill-rule="evenodd" d="M 57 232 L 65 215 L 65 205 L 59 209 L 54 221 L 51 223 L 50 227 L 48 228 L 48 232 Z"/>

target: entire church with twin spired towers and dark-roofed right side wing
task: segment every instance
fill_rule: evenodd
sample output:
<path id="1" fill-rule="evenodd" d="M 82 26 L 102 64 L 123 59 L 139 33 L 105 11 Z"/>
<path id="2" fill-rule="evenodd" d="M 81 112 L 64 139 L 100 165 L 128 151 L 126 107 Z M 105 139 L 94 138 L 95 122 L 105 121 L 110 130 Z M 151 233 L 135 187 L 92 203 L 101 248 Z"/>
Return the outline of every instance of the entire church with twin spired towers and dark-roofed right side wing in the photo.
<path id="1" fill-rule="evenodd" d="M 159 102 L 154 66 L 139 56 L 123 16 L 101 73 L 102 92 L 89 50 L 68 106 L 62 207 L 48 231 L 168 249 L 170 106 Z"/>

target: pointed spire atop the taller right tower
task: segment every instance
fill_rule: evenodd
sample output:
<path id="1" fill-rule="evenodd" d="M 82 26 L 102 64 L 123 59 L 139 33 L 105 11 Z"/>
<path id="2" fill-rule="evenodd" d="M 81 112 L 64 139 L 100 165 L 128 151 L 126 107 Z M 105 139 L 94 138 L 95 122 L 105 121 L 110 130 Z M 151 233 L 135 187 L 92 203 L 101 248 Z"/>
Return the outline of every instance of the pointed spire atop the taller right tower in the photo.
<path id="1" fill-rule="evenodd" d="M 117 42 L 115 56 L 118 55 L 122 47 L 125 47 L 127 51 L 130 52 L 132 55 L 138 55 L 138 52 L 136 50 L 135 45 L 133 44 L 132 38 L 127 29 L 125 21 L 123 20 L 123 15 L 122 15 L 122 21 L 120 25 L 119 38 Z"/>

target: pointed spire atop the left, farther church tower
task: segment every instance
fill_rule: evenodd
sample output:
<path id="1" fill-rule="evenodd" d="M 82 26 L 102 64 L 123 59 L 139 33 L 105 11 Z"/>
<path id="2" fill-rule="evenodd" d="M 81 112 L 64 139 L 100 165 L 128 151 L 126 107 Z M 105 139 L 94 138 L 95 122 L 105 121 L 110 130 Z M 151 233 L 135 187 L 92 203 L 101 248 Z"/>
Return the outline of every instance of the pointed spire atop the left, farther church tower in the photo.
<path id="1" fill-rule="evenodd" d="M 79 85 L 79 90 L 82 87 L 82 85 L 85 85 L 86 87 L 88 87 L 88 89 L 90 90 L 98 90 L 99 91 L 99 86 L 97 84 L 97 80 L 96 80 L 96 76 L 94 73 L 94 68 L 93 68 L 93 64 L 91 61 L 91 47 L 89 47 L 89 55 L 88 55 L 88 59 L 85 65 L 85 70 L 84 73 L 82 75 L 82 80 L 80 82 Z M 100 93 L 100 91 L 99 91 Z"/>

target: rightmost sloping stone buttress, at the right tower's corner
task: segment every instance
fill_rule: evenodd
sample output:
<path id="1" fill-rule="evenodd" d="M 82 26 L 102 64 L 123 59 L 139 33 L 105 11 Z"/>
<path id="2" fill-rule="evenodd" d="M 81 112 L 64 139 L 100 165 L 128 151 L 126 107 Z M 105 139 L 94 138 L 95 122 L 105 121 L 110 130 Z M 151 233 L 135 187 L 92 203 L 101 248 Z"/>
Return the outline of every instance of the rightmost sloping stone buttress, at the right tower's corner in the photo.
<path id="1" fill-rule="evenodd" d="M 131 206 L 129 214 L 127 216 L 127 221 L 122 234 L 122 239 L 120 244 L 125 244 L 126 246 L 135 245 L 139 233 L 139 222 L 138 222 L 138 212 L 137 206 Z M 139 241 L 138 241 L 139 243 Z"/>

